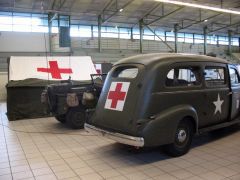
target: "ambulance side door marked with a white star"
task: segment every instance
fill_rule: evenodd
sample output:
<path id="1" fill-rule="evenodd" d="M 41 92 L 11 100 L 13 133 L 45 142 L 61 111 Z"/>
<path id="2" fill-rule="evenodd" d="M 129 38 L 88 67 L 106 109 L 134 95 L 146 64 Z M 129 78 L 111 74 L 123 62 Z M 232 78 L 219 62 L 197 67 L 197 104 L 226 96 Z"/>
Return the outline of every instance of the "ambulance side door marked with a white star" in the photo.
<path id="1" fill-rule="evenodd" d="M 230 117 L 231 94 L 226 64 L 207 63 L 204 68 L 205 112 L 202 127 L 227 121 Z"/>

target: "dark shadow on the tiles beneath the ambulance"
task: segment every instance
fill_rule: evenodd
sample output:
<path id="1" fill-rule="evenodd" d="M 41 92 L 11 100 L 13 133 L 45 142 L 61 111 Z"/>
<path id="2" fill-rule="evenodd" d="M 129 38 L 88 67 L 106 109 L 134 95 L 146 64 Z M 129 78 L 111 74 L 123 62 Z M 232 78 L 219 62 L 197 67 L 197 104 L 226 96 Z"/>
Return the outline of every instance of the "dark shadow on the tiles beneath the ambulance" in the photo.
<path id="1" fill-rule="evenodd" d="M 240 125 L 235 125 L 194 137 L 191 148 L 198 148 L 199 146 L 221 140 L 222 138 L 238 133 L 239 130 Z M 103 151 L 103 153 L 101 153 L 102 157 L 112 155 L 115 156 L 118 160 L 128 160 L 131 162 L 131 164 L 137 165 L 154 163 L 173 158 L 166 155 L 162 147 L 136 149 L 131 146 L 114 143 L 99 148 L 100 151 L 101 148 L 108 149 L 107 151 Z"/>

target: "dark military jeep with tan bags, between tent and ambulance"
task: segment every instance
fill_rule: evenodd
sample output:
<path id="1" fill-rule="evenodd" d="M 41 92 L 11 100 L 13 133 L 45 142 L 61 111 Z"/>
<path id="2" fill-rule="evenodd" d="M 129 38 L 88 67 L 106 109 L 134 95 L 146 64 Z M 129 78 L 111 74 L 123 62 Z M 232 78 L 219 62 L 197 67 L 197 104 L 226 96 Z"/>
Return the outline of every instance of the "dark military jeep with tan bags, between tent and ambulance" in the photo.
<path id="1" fill-rule="evenodd" d="M 62 81 L 48 85 L 41 94 L 46 112 L 74 129 L 83 128 L 96 107 L 106 74 L 91 74 L 90 81 Z"/>

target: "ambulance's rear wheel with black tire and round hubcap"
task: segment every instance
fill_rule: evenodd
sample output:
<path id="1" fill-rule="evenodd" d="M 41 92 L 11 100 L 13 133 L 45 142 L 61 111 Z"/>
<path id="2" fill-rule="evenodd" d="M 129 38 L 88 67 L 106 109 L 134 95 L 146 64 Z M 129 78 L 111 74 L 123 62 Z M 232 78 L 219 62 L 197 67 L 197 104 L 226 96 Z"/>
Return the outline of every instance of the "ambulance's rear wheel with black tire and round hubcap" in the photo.
<path id="1" fill-rule="evenodd" d="M 175 139 L 172 144 L 165 146 L 167 154 L 170 156 L 182 156 L 186 154 L 192 144 L 193 124 L 189 120 L 182 120 L 177 127 Z"/>

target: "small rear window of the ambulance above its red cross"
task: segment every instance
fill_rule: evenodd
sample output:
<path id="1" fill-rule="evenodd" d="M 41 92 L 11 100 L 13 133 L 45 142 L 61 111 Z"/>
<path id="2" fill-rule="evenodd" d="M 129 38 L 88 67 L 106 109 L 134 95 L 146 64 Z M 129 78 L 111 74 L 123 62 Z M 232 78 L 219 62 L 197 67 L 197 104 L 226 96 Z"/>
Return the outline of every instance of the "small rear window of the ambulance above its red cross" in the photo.
<path id="1" fill-rule="evenodd" d="M 113 76 L 118 78 L 134 79 L 137 77 L 137 74 L 138 68 L 136 67 L 119 67 L 115 70 Z"/>

